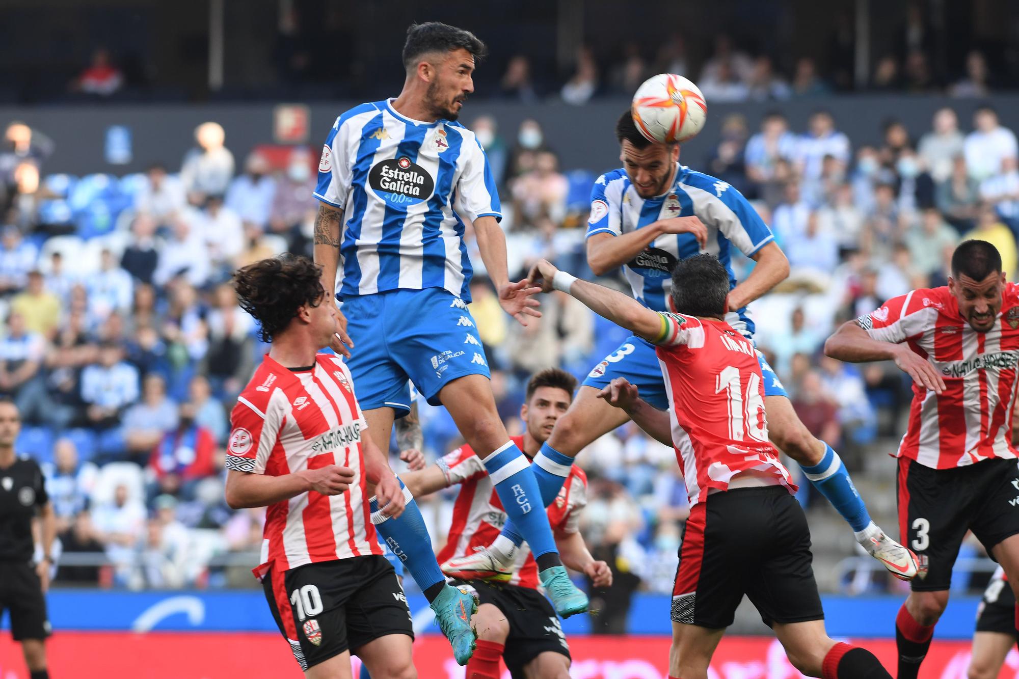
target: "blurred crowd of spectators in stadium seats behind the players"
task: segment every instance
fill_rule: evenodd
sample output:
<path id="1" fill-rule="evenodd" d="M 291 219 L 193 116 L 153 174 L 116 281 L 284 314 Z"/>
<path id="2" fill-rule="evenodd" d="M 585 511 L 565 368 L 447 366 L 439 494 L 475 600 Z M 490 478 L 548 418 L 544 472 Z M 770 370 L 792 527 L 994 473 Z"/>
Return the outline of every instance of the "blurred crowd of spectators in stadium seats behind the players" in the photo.
<path id="1" fill-rule="evenodd" d="M 559 168 L 534 120 L 513 141 L 495 119 L 473 126 L 503 197 L 512 275 L 548 257 L 590 277 L 594 175 Z M 909 385 L 894 368 L 843 365 L 819 349 L 839 322 L 944 284 L 961 239 L 991 241 L 1016 273 L 1016 137 L 988 108 L 972 121 L 942 109 L 930 129 L 890 122 L 879 146 L 854 145 L 825 112 L 806 129 L 790 129 L 781 113 L 756 132 L 740 116 L 721 129 L 709 159 L 684 161 L 742 191 L 774 230 L 792 273 L 751 307 L 758 344 L 808 428 L 859 469 L 865 447 L 901 431 Z M 223 445 L 232 402 L 266 347 L 229 276 L 260 258 L 309 252 L 316 159 L 298 150 L 274 166 L 252 153 L 237 171 L 223 127 L 206 122 L 195 149 L 166 150 L 184 155 L 179 167 L 76 177 L 46 173 L 44 132 L 15 123 L 5 140 L 0 394 L 21 410 L 19 452 L 46 469 L 63 550 L 57 581 L 253 582 L 237 574 L 255 565 L 262 513 L 225 506 Z M 582 376 L 627 333 L 558 294 L 521 327 L 472 259 L 471 311 L 515 433 L 531 372 L 560 365 Z M 742 277 L 752 262 L 736 265 Z M 434 459 L 459 434 L 444 410 L 420 406 Z M 673 451 L 627 425 L 579 460 L 591 479 L 584 529 L 596 557 L 634 586 L 668 591 L 686 515 Z M 422 503 L 439 542 L 450 499 Z"/>

